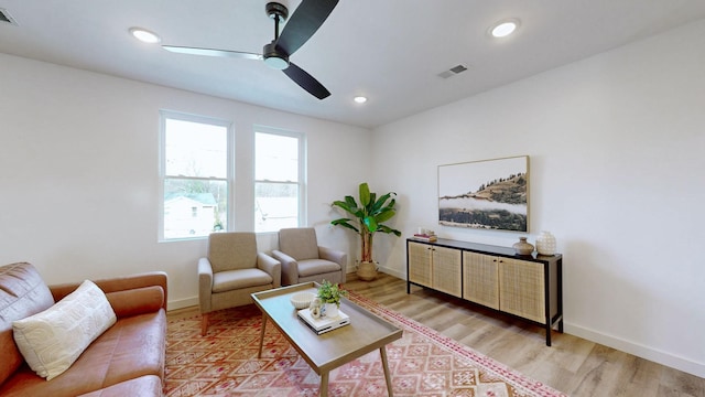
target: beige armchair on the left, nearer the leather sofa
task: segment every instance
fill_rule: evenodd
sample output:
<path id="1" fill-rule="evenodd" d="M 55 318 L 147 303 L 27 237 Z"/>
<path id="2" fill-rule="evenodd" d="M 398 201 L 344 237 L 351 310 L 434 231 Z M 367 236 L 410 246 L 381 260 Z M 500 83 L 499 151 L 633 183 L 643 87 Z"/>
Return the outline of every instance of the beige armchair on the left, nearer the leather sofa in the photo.
<path id="1" fill-rule="evenodd" d="M 208 331 L 208 314 L 252 303 L 253 292 L 281 287 L 281 264 L 257 250 L 254 233 L 213 233 L 208 256 L 198 260 L 200 334 Z"/>

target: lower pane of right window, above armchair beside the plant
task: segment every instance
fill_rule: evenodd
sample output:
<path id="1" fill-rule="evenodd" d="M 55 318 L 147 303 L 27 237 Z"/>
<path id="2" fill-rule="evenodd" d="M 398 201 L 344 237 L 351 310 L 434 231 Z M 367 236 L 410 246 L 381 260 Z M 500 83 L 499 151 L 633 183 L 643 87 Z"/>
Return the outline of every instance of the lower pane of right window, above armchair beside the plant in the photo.
<path id="1" fill-rule="evenodd" d="M 296 183 L 254 183 L 254 229 L 276 232 L 299 226 Z"/>

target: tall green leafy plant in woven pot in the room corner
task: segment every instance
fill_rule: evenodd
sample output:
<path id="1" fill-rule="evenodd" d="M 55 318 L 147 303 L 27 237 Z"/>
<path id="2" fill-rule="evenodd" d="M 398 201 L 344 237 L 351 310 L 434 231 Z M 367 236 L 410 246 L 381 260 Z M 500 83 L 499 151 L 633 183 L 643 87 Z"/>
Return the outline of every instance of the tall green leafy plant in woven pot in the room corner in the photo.
<path id="1" fill-rule="evenodd" d="M 370 193 L 367 183 L 360 183 L 359 204 L 349 195 L 345 196 L 345 201 L 333 202 L 334 206 L 343 208 L 350 217 L 343 217 L 330 223 L 349 228 L 360 235 L 361 251 L 357 275 L 362 280 L 372 280 L 377 276 L 377 266 L 372 259 L 372 237 L 375 234 L 381 232 L 393 234 L 397 237 L 401 236 L 401 232 L 382 224 L 397 214 L 394 196 L 397 193 L 389 192 L 378 198 L 377 193 Z"/>

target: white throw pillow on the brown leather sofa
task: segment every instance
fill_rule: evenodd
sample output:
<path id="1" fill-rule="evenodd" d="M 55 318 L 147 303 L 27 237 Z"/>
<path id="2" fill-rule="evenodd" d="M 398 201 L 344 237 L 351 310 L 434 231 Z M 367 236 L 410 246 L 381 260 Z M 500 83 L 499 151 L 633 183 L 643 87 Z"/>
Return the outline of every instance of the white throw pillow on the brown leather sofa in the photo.
<path id="1" fill-rule="evenodd" d="M 51 380 L 116 321 L 106 294 L 86 280 L 45 311 L 12 322 L 12 331 L 30 368 Z"/>

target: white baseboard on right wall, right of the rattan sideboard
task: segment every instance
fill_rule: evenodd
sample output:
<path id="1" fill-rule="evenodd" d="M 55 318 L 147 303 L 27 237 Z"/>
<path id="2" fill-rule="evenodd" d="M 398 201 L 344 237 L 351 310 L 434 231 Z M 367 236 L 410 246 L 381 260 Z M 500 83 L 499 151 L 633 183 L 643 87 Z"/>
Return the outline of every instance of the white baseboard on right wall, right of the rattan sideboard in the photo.
<path id="1" fill-rule="evenodd" d="M 671 368 L 683 371 L 685 373 L 705 377 L 705 363 L 674 355 L 653 347 L 644 346 L 639 343 L 627 341 L 617 336 L 607 335 L 585 326 L 564 322 L 564 331 L 571 335 L 583 337 L 585 340 L 603 344 L 638 357 L 650 360 L 652 362 L 665 365 Z"/>

